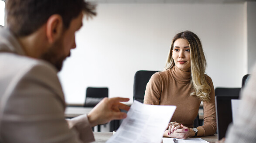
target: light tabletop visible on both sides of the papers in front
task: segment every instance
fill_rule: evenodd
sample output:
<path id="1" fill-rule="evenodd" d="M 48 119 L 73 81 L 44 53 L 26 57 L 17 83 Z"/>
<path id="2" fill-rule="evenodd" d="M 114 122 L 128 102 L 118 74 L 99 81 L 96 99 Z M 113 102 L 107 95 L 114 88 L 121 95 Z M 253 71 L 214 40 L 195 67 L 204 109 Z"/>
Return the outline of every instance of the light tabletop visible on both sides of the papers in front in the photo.
<path id="1" fill-rule="evenodd" d="M 93 134 L 95 137 L 95 142 L 93 143 L 105 143 L 111 136 L 113 136 L 112 132 L 93 132 Z M 198 138 L 202 138 L 203 140 L 206 140 L 209 143 L 215 143 L 216 141 L 218 141 L 217 134 L 212 136 L 200 136 Z"/>

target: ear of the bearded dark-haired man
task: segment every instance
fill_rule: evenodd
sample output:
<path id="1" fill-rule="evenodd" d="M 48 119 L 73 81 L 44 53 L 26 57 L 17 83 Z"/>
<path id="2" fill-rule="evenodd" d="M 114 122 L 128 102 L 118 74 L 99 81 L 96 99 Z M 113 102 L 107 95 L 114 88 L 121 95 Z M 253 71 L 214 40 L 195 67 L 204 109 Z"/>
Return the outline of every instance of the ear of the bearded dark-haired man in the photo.
<path id="1" fill-rule="evenodd" d="M 50 16 L 46 23 L 46 36 L 48 42 L 53 43 L 61 36 L 63 32 L 62 18 L 58 14 Z"/>

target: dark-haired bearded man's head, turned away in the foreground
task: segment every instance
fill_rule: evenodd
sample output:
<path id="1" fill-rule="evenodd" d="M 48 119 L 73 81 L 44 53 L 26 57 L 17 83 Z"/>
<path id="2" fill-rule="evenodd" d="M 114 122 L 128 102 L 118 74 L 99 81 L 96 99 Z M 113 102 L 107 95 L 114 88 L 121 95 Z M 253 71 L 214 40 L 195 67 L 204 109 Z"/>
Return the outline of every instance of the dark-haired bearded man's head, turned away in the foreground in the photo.
<path id="1" fill-rule="evenodd" d="M 42 50 L 28 48 L 29 44 L 23 44 L 24 49 L 27 48 L 28 56 L 44 59 L 61 70 L 63 60 L 75 48 L 75 32 L 82 26 L 83 13 L 92 17 L 96 15 L 94 10 L 95 6 L 84 0 L 7 0 L 6 27 L 18 39 L 33 37 L 35 33 L 40 35 L 38 41 L 46 39 Z M 33 40 L 28 41 L 33 43 L 36 39 Z M 33 50 L 41 52 L 29 54 Z"/>

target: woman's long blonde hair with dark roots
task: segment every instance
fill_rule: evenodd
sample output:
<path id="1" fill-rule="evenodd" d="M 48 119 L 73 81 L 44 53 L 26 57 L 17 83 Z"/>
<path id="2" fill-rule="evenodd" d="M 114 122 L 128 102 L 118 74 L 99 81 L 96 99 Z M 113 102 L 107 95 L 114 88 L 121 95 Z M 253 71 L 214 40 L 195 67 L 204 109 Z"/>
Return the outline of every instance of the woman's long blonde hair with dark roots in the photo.
<path id="1" fill-rule="evenodd" d="M 172 50 L 174 47 L 174 42 L 180 38 L 186 39 L 190 47 L 191 88 L 195 90 L 195 92 L 192 92 L 190 95 L 196 95 L 202 101 L 208 102 L 210 99 L 209 94 L 212 89 L 206 81 L 206 60 L 202 44 L 198 36 L 195 35 L 195 33 L 192 33 L 191 31 L 184 31 L 174 36 L 171 42 L 171 48 L 164 69 L 171 69 L 175 65 L 174 59 L 172 58 Z"/>

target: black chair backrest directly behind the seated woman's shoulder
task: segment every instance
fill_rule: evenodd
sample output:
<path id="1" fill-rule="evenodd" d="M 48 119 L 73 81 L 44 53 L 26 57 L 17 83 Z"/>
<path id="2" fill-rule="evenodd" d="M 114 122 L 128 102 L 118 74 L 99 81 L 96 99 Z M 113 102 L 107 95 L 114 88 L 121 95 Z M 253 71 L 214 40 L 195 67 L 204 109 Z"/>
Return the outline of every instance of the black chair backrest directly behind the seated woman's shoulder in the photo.
<path id="1" fill-rule="evenodd" d="M 133 100 L 143 103 L 145 90 L 151 76 L 158 71 L 137 71 L 134 75 Z"/>

